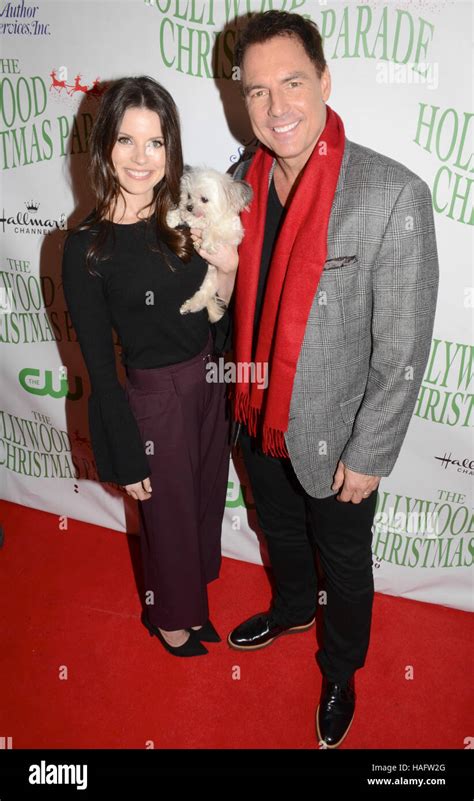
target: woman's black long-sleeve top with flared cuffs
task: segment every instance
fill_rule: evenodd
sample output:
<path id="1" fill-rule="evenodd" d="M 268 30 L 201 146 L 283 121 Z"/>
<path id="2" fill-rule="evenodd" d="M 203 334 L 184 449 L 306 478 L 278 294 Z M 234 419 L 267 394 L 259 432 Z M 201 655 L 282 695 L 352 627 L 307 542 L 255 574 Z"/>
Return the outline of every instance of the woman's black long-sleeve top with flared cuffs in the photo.
<path id="1" fill-rule="evenodd" d="M 88 218 L 86 218 L 88 219 Z M 182 262 L 161 243 L 174 268 L 160 253 L 153 222 L 104 223 L 104 255 L 91 275 L 85 254 L 94 232 L 70 234 L 62 259 L 64 297 L 91 384 L 88 399 L 91 444 L 101 481 L 134 484 L 150 475 L 137 422 L 118 380 L 112 329 L 122 345 L 121 362 L 147 369 L 177 364 L 196 356 L 209 330 L 215 348 L 229 347 L 229 315 L 209 323 L 207 310 L 181 315 L 179 307 L 201 285 L 206 262 L 193 253 Z"/>

